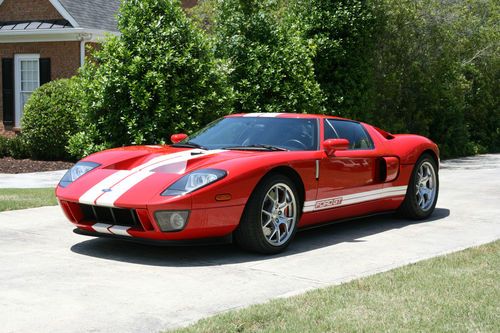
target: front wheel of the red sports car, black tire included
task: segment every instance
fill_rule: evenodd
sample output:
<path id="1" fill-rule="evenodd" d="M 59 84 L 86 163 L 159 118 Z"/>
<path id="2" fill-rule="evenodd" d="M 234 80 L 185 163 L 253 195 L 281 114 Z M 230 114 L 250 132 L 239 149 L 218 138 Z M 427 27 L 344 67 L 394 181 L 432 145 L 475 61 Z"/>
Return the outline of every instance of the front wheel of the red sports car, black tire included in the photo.
<path id="1" fill-rule="evenodd" d="M 282 252 L 295 236 L 301 207 L 296 186 L 288 177 L 266 176 L 247 202 L 234 232 L 236 244 L 263 254 Z"/>

